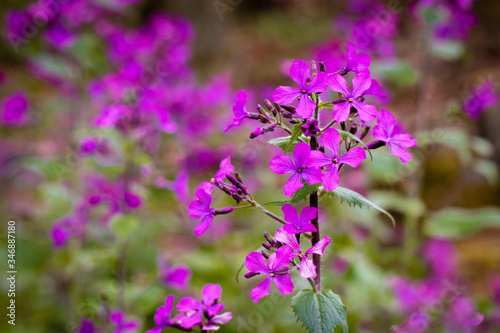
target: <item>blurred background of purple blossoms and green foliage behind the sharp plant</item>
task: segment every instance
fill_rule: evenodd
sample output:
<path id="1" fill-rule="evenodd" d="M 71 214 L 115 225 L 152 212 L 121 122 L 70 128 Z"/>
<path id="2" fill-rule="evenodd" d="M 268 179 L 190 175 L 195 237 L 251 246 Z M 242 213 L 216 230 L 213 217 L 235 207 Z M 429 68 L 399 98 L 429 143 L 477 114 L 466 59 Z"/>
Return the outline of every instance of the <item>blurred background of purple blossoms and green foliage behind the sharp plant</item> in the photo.
<path id="1" fill-rule="evenodd" d="M 500 332 L 500 110 L 492 103 L 477 119 L 464 112 L 483 82 L 492 82 L 491 95 L 498 90 L 498 1 L 129 2 L 75 1 L 82 6 L 57 12 L 70 32 L 41 24 L 19 48 L 5 37 L 15 27 L 8 18 L 32 2 L 0 5 L 0 262 L 4 276 L 6 223 L 14 220 L 18 270 L 16 326 L 4 316 L 1 332 L 75 332 L 84 318 L 111 332 L 114 308 L 144 332 L 167 294 L 199 297 L 207 283 L 222 286 L 233 313 L 221 332 L 300 332 L 288 296 L 274 292 L 254 304 L 255 279 L 245 280 L 245 270 L 238 278 L 274 222 L 238 210 L 197 238 L 186 207 L 228 155 L 260 202 L 285 199 L 283 177 L 268 168 L 279 152 L 266 143 L 273 134 L 249 140 L 251 124 L 223 132 L 232 104 L 243 88 L 249 110 L 271 98 L 290 83 L 291 60 L 342 61 L 345 41 L 372 57 L 386 92 L 377 108 L 397 115 L 418 147 L 405 165 L 376 150 L 372 163 L 342 178 L 390 211 L 395 227 L 376 210 L 320 202 L 322 230 L 333 240 L 324 287 L 348 306 L 352 332 Z M 459 3 L 466 5 L 457 13 Z M 158 13 L 187 27 L 162 25 Z M 150 97 L 139 120 L 98 126 L 110 103 L 102 89 L 132 104 L 144 89 L 124 83 L 130 59 L 161 97 Z M 127 84 L 132 97 L 120 90 Z M 26 114 L 9 123 L 6 100 L 18 92 L 29 105 L 18 105 Z M 151 118 L 156 108 L 170 119 L 160 111 L 159 121 Z M 216 203 L 234 202 L 220 195 Z M 183 286 L 169 283 L 178 265 L 191 272 Z M 442 297 L 445 282 L 460 286 L 451 300 Z M 5 309 L 5 279 L 1 285 Z M 437 301 L 428 291 L 435 286 Z"/>

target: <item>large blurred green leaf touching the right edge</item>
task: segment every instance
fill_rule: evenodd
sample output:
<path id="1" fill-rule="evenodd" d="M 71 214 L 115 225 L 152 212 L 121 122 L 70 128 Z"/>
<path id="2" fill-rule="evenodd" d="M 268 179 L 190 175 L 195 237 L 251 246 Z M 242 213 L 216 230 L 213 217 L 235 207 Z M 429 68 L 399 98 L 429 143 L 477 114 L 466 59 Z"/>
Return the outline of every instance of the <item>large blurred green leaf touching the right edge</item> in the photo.
<path id="1" fill-rule="evenodd" d="M 461 238 L 486 227 L 500 227 L 499 208 L 445 208 L 430 216 L 424 225 L 424 232 L 434 237 Z"/>

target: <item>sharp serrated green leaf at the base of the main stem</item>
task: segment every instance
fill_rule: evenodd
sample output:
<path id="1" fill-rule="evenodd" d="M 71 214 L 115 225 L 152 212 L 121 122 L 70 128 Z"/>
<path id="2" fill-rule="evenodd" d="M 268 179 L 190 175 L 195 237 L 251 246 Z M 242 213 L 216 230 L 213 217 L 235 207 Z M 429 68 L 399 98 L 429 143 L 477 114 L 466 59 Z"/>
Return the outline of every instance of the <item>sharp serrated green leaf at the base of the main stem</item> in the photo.
<path id="1" fill-rule="evenodd" d="M 332 333 L 342 327 L 348 333 L 347 307 L 331 290 L 315 293 L 304 289 L 292 298 L 295 317 L 309 333 Z"/>

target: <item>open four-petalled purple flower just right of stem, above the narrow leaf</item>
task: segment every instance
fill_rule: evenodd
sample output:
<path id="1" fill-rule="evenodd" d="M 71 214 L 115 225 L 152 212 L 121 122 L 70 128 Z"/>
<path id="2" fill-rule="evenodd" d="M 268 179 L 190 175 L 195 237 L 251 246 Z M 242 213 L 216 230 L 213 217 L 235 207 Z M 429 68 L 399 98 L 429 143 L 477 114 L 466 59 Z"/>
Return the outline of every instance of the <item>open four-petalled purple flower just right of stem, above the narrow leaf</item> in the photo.
<path id="1" fill-rule="evenodd" d="M 341 164 L 347 164 L 355 168 L 366 159 L 366 153 L 361 147 L 352 148 L 343 156 L 339 156 L 340 141 L 341 137 L 336 129 L 327 129 L 321 136 L 321 143 L 332 153 L 332 156 L 315 150 L 311 153 L 311 159 L 309 160 L 311 166 L 327 167 L 322 178 L 327 191 L 333 191 L 339 186 L 339 167 Z"/>

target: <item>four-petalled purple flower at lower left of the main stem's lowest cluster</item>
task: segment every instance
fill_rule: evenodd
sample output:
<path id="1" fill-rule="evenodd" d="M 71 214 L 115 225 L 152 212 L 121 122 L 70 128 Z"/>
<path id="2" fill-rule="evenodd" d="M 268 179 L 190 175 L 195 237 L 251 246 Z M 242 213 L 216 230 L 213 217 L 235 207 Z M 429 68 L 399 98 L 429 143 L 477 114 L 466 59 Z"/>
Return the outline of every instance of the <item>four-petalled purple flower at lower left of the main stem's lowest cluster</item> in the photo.
<path id="1" fill-rule="evenodd" d="M 295 236 L 294 236 L 295 237 Z M 269 275 L 264 281 L 250 292 L 250 298 L 257 303 L 262 297 L 269 295 L 271 281 L 274 281 L 276 288 L 282 295 L 288 295 L 293 291 L 292 278 L 288 274 L 288 265 L 292 249 L 288 246 L 280 247 L 272 253 L 267 260 L 260 252 L 251 252 L 245 259 L 245 267 L 251 276 L 255 274 Z M 246 276 L 249 276 L 246 275 Z"/>

